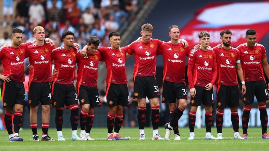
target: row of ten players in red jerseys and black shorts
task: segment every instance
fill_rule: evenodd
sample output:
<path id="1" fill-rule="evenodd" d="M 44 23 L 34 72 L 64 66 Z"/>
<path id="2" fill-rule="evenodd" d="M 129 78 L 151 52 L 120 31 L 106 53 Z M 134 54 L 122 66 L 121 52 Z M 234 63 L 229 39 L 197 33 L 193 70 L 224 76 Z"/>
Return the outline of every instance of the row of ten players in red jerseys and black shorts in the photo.
<path id="1" fill-rule="evenodd" d="M 185 79 L 185 56 L 188 59 L 188 82 L 190 86 L 191 108 L 189 112 L 189 140 L 195 138 L 194 126 L 197 107 L 203 103 L 205 107 L 205 139 L 223 139 L 222 123 L 224 108 L 231 109 L 231 121 L 234 139 L 247 139 L 250 110 L 254 95 L 258 101 L 262 139 L 269 139 L 267 134 L 268 100 L 267 84 L 264 78 L 269 78 L 264 46 L 256 43 L 256 32 L 246 31 L 246 43 L 237 48 L 230 46 L 232 33 L 223 30 L 220 33 L 222 44 L 211 48 L 210 35 L 207 31 L 198 34 L 200 45 L 191 50 L 184 39 L 179 39 L 179 27 L 172 25 L 168 28 L 171 41 L 163 42 L 152 39 L 153 26 L 144 24 L 141 27 L 141 37 L 120 47 L 121 38 L 118 32 L 109 34 L 111 47 L 100 47 L 100 40 L 96 36 L 88 38 L 88 44 L 78 52 L 78 44 L 74 43 L 74 33 L 67 31 L 62 34 L 63 46 L 55 48 L 51 39 L 44 38 L 45 30 L 41 26 L 34 28 L 35 40 L 21 43 L 23 32 L 13 29 L 12 43 L 0 48 L 0 60 L 3 64 L 1 78 L 1 93 L 5 108 L 5 126 L 9 134 L 9 141 L 23 141 L 19 137 L 22 124 L 23 106 L 25 104 L 24 59 L 29 57 L 29 92 L 30 126 L 33 141 L 39 141 L 37 134 L 37 108 L 42 106 L 42 138 L 43 141 L 54 141 L 48 136 L 50 106 L 56 110 L 55 123 L 58 141 L 65 141 L 62 135 L 63 108 L 70 108 L 72 141 L 94 140 L 90 137 L 90 130 L 94 122 L 94 108 L 100 107 L 101 102 L 97 90 L 98 63 L 104 61 L 107 68 L 106 98 L 108 102 L 107 140 L 125 140 L 119 130 L 123 121 L 123 108 L 129 106 L 125 60 L 134 55 L 133 96 L 138 99 L 137 120 L 140 140 L 145 140 L 145 110 L 146 97 L 151 105 L 151 122 L 153 129 L 152 140 L 170 139 L 172 130 L 175 140 L 180 140 L 178 120 L 187 106 L 187 88 Z M 158 132 L 159 125 L 159 88 L 155 78 L 156 56 L 163 56 L 163 94 L 162 103 L 168 103 L 171 113 L 170 122 L 165 124 L 165 138 Z M 51 61 L 55 68 L 51 71 Z M 77 63 L 77 82 L 74 86 L 75 64 Z M 53 72 L 53 76 L 52 73 Z M 242 83 L 243 134 L 239 134 L 239 88 L 238 80 Z M 217 137 L 211 134 L 213 85 L 217 84 Z M 78 102 L 79 101 L 79 102 Z M 79 103 L 79 104 L 78 104 Z M 79 113 L 79 105 L 82 109 Z M 14 108 L 14 118 L 12 112 Z M 80 137 L 77 126 L 80 119 Z M 13 126 L 12 126 L 13 122 Z M 14 133 L 12 131 L 14 129 Z M 114 128 L 114 133 L 113 133 Z"/>

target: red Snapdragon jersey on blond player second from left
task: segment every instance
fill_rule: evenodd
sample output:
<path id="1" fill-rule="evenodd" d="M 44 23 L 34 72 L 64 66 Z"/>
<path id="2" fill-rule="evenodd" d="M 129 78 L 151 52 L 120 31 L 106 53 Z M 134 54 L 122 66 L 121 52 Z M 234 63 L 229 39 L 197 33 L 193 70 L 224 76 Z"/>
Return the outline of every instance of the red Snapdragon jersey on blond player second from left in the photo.
<path id="1" fill-rule="evenodd" d="M 29 71 L 29 81 L 48 82 L 51 81 L 51 51 L 55 46 L 45 43 L 37 46 L 36 43 L 27 47 L 25 57 L 29 57 L 30 65 L 33 66 Z"/>

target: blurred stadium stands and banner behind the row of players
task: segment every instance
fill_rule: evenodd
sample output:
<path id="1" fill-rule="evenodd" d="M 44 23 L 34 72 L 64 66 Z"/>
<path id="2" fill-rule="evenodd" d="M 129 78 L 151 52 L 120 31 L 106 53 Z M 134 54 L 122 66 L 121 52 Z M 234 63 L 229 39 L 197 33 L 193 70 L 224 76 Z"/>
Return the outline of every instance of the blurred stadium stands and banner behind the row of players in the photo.
<path id="1" fill-rule="evenodd" d="M 4 2 L 8 2 L 8 0 L 0 1 L 0 11 L 2 12 L 3 6 L 6 5 Z M 199 1 L 199 0 L 190 0 L 190 1 L 178 1 L 178 0 L 56 0 L 56 6 L 60 9 L 51 9 L 52 0 L 39 0 L 39 2 L 42 4 L 42 8 L 44 9 L 44 15 L 41 18 L 41 21 L 39 18 L 37 20 L 31 20 L 28 15 L 29 7 L 31 7 L 32 0 L 18 0 L 13 1 L 13 24 L 9 25 L 9 17 L 6 27 L 4 28 L 1 24 L 0 28 L 0 45 L 3 43 L 9 42 L 9 39 L 4 38 L 4 34 L 8 35 L 10 37 L 10 32 L 12 28 L 19 27 L 23 29 L 24 31 L 24 40 L 30 41 L 32 36 L 32 29 L 37 26 L 41 25 L 46 29 L 46 37 L 50 37 L 56 42 L 56 46 L 61 46 L 61 40 L 60 40 L 60 34 L 65 30 L 65 25 L 70 22 L 73 24 L 73 27 L 69 27 L 68 30 L 73 30 L 76 35 L 76 43 L 79 43 L 81 47 L 87 43 L 87 37 L 91 35 L 98 36 L 102 40 L 102 46 L 109 46 L 108 43 L 108 34 L 111 31 L 119 31 L 121 33 L 122 38 L 122 44 L 121 46 L 125 46 L 140 36 L 140 30 L 141 26 L 144 23 L 151 23 L 154 27 L 153 32 L 153 38 L 160 39 L 163 41 L 169 41 L 170 37 L 168 36 L 168 27 L 171 25 L 178 25 L 181 30 L 181 36 L 188 34 L 188 31 L 185 32 L 185 29 L 187 28 L 186 25 L 188 25 L 193 20 L 197 19 L 197 15 L 201 12 L 203 12 L 203 8 L 205 7 L 214 7 L 216 5 L 228 5 L 231 3 L 231 1 L 225 1 L 225 0 L 206 0 L 206 1 Z M 269 1 L 240 1 L 240 0 L 234 0 L 233 2 L 241 2 L 238 8 L 244 7 L 244 4 L 250 4 L 251 2 L 266 2 L 267 5 Z M 87 5 L 86 5 L 87 4 Z M 77 6 L 77 7 L 76 7 Z M 113 7 L 119 7 L 122 9 L 122 11 L 112 12 L 111 10 Z M 87 13 L 88 10 L 86 8 L 90 8 L 90 13 Z M 257 8 L 248 7 L 250 11 L 248 13 L 256 13 L 258 11 Z M 42 14 L 42 11 L 36 7 L 36 9 L 33 10 L 39 10 L 34 11 L 35 15 Z M 53 10 L 53 11 L 51 11 Z M 260 9 L 261 10 L 261 9 Z M 260 11 L 259 10 L 259 11 Z M 227 14 L 225 17 L 223 17 L 221 20 L 226 20 L 226 22 L 230 22 L 229 20 L 232 18 L 235 18 L 236 15 L 242 15 L 242 14 L 229 14 L 228 12 L 233 11 L 231 9 L 227 9 L 226 11 L 219 11 L 220 14 Z M 58 15 L 61 12 L 62 15 Z M 71 12 L 71 13 L 70 13 Z M 85 13 L 86 12 L 86 13 Z M 92 13 L 91 13 L 92 12 Z M 33 14 L 31 12 L 30 14 Z M 72 14 L 72 15 L 70 15 Z M 95 14 L 95 15 L 93 15 Z M 112 17 L 109 17 L 110 14 L 116 15 L 114 17 L 114 21 L 112 21 Z M 247 13 L 246 13 L 247 14 Z M 260 18 L 259 21 L 255 23 L 251 22 L 253 18 L 249 17 L 248 15 L 243 14 L 245 16 L 242 16 L 241 18 L 247 18 L 249 22 L 245 22 L 246 20 L 242 20 L 245 25 L 248 26 L 247 29 L 253 28 L 255 30 L 260 30 L 259 23 L 262 23 L 261 29 L 263 29 L 261 32 L 257 32 L 257 39 L 258 43 L 265 46 L 265 49 L 269 50 L 269 23 L 268 18 Z M 265 13 L 266 14 L 266 13 Z M 215 16 L 218 16 L 219 14 L 215 14 Z M 19 17 L 18 17 L 19 16 Z M 121 17 L 122 16 L 122 17 Z M 267 15 L 268 17 L 269 15 Z M 83 20 L 84 17 L 84 20 Z M 214 15 L 213 15 L 214 17 Z M 95 19 L 93 19 L 95 18 Z M 110 18 L 110 21 L 108 21 Z M 239 16 L 240 18 L 240 16 Z M 257 17 L 259 18 L 259 17 Z M 3 15 L 0 15 L 0 22 L 3 23 L 4 17 Z M 59 20 L 59 21 L 58 21 Z M 240 24 L 240 23 L 239 23 Z M 254 26 L 255 25 L 255 26 Z M 221 25 L 224 26 L 224 25 Z M 233 25 L 231 28 L 234 28 L 236 26 L 237 28 L 245 29 L 244 25 Z M 225 27 L 225 26 L 224 26 Z M 230 26 L 229 26 L 230 27 Z M 204 27 L 203 29 L 208 31 L 213 31 L 217 27 Z M 230 29 L 230 28 L 227 28 Z M 245 32 L 246 30 L 244 30 Z M 243 33 L 244 33 L 243 32 Z M 244 34 L 243 34 L 244 35 Z M 263 36 L 259 36 L 263 35 Z M 234 34 L 233 34 L 234 37 Z M 185 37 L 184 37 L 185 38 Z M 212 38 L 212 34 L 211 34 Z M 188 40 L 188 38 L 185 38 Z M 197 37 L 198 39 L 198 37 Z M 189 41 L 189 40 L 188 40 Z M 10 42 L 9 42 L 10 43 Z M 242 42 L 243 43 L 243 42 Z M 233 41 L 232 41 L 233 45 Z M 190 45 L 191 48 L 193 45 Z M 211 44 L 213 47 L 214 45 Z M 233 45 L 233 47 L 236 47 L 237 45 Z M 126 70 L 127 70 L 127 76 L 128 79 L 132 78 L 132 72 L 133 72 L 133 57 L 128 59 L 126 61 Z M 157 57 L 157 80 L 159 87 L 162 85 L 162 57 Z M 27 63 L 26 63 L 27 65 Z M 105 65 L 104 63 L 100 63 L 99 66 L 99 77 L 98 77 L 98 88 L 100 95 L 102 95 L 103 90 L 103 81 L 105 80 L 106 72 L 105 72 Z M 0 72 L 2 72 L 2 65 L 0 66 Z M 26 79 L 28 71 L 25 70 Z M 120 77 L 119 77 L 120 78 Z M 267 80 L 268 83 L 268 80 Z M 27 81 L 25 82 L 25 86 L 27 89 Z M 131 92 L 131 90 L 130 90 Z M 106 115 L 108 112 L 108 108 L 106 107 L 105 99 L 102 99 L 103 105 L 101 108 L 97 108 L 95 110 L 95 121 L 94 126 L 98 127 L 105 127 L 105 120 Z M 188 100 L 189 102 L 189 100 Z M 131 104 L 133 104 L 133 110 L 130 108 L 125 110 L 125 126 L 130 126 L 130 118 L 132 115 L 136 117 L 136 102 L 133 101 Z M 257 102 L 253 105 L 254 107 L 257 107 Z M 132 112 L 130 112 L 130 110 Z M 239 116 L 242 115 L 242 106 L 239 109 Z M 267 112 L 268 112 L 267 108 Z M 150 112 L 150 111 L 149 111 Z M 189 112 L 189 108 L 186 109 L 184 112 L 184 115 L 180 119 L 179 126 L 187 126 L 188 118 L 187 114 Z M 169 109 L 167 105 L 161 104 L 161 119 L 160 119 L 160 126 L 164 125 L 164 123 L 168 122 L 169 120 Z M 24 116 L 23 116 L 23 128 L 30 128 L 30 120 L 29 120 L 29 108 L 26 106 L 24 108 Z M 63 127 L 69 127 L 69 110 L 64 111 L 64 123 Z M 54 122 L 54 115 L 55 111 L 54 109 L 51 109 L 51 120 L 50 120 L 50 127 L 55 127 Z M 204 115 L 204 110 L 201 110 L 201 115 Z M 0 116 L 3 116 L 3 109 L 2 109 L 2 103 L 0 103 Z M 230 127 L 232 124 L 230 122 L 230 112 L 229 109 L 225 110 L 224 115 L 224 125 L 225 127 Z M 257 108 L 253 108 L 251 111 L 251 118 L 250 118 L 250 126 L 259 126 L 260 120 L 259 120 L 259 112 Z M 150 120 L 147 120 L 147 125 L 150 126 Z M 2 120 L 3 121 L 3 120 Z M 0 120 L 0 129 L 4 129 L 3 123 Z M 202 119 L 201 121 L 204 121 Z M 136 121 L 135 121 L 136 122 Z M 41 108 L 38 110 L 38 123 L 41 123 Z M 202 126 L 203 122 L 201 123 Z M 241 124 L 241 122 L 240 122 Z M 137 126 L 137 124 L 136 124 Z"/>

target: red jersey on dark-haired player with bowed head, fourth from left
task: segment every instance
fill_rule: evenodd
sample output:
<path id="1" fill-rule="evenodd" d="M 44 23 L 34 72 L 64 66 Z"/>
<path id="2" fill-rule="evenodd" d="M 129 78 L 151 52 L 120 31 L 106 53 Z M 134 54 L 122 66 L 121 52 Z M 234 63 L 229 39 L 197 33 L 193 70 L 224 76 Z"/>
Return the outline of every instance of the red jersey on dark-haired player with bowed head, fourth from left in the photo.
<path id="1" fill-rule="evenodd" d="M 76 54 L 77 62 L 77 81 L 76 87 L 80 85 L 86 87 L 97 87 L 98 64 L 102 60 L 101 53 L 96 51 L 94 54 L 89 54 L 85 57 L 81 56 L 80 52 Z"/>

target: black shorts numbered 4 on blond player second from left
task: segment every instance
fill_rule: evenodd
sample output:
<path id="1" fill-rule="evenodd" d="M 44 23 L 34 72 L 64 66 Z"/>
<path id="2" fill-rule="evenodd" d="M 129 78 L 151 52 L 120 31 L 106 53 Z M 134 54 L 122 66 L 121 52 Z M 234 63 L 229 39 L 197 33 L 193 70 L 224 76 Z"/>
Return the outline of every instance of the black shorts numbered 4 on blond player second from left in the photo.
<path id="1" fill-rule="evenodd" d="M 49 82 L 31 82 L 28 84 L 28 105 L 51 104 L 51 86 Z"/>

